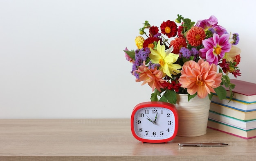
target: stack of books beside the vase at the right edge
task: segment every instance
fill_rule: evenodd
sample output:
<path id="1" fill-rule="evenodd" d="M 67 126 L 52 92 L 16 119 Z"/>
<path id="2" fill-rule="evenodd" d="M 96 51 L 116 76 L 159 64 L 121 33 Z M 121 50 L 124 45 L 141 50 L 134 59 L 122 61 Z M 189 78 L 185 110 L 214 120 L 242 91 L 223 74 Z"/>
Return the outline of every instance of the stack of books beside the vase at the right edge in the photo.
<path id="1" fill-rule="evenodd" d="M 251 139 L 256 137 L 256 84 L 243 80 L 231 79 L 236 87 L 232 90 L 233 98 L 219 100 L 213 96 L 210 105 L 208 128 L 224 133 Z"/>

